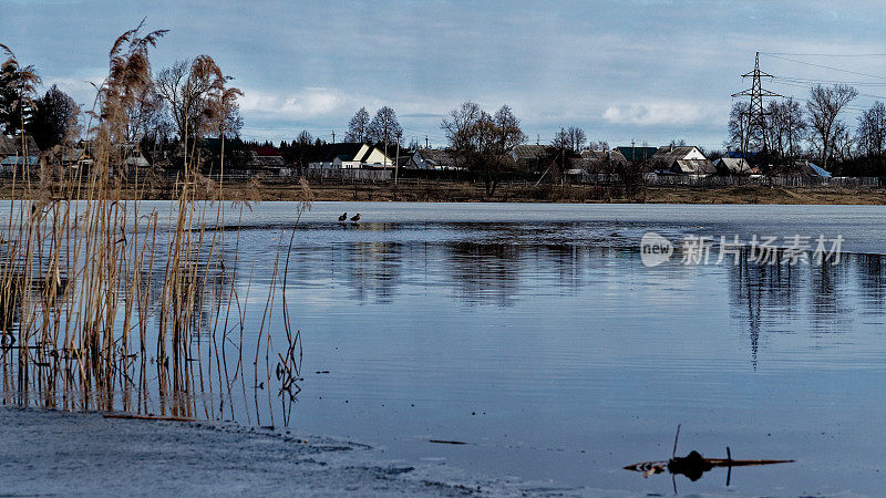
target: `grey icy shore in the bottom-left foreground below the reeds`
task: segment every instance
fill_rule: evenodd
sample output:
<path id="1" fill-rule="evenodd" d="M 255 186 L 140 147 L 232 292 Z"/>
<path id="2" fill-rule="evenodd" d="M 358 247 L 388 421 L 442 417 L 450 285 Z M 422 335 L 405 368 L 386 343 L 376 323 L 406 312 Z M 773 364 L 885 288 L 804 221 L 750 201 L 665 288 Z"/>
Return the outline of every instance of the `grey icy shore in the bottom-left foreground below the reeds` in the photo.
<path id="1" fill-rule="evenodd" d="M 0 490 L 14 495 L 584 495 L 385 461 L 369 446 L 230 423 L 0 407 Z"/>

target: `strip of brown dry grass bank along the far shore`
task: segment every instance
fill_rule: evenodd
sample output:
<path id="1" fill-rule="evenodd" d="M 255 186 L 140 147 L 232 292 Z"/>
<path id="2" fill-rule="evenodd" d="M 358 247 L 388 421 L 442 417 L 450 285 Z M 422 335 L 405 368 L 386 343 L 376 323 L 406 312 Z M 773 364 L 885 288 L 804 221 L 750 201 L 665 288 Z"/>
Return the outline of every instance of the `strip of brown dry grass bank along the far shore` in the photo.
<path id="1" fill-rule="evenodd" d="M 311 200 L 318 201 L 409 201 L 409 203 L 538 203 L 538 204 L 687 204 L 687 205 L 886 205 L 886 189 L 842 187 L 646 187 L 626 195 L 619 186 L 594 185 L 552 186 L 508 185 L 496 188 L 486 196 L 481 184 L 466 181 L 427 181 L 393 185 L 391 183 L 309 183 Z M 123 197 L 144 200 L 174 198 L 171 186 L 154 186 L 136 190 L 123 186 Z M 32 194 L 33 193 L 33 194 Z M 137 194 L 137 195 L 136 195 Z M 52 195 L 52 194 L 51 194 Z M 16 198 L 45 196 L 45 191 L 29 191 L 17 186 Z M 196 197 L 217 199 L 213 186 L 199 186 Z M 224 186 L 225 200 L 272 201 L 303 200 L 303 191 L 296 181 L 279 179 L 249 183 L 230 183 Z M 0 185 L 0 201 L 10 200 L 10 185 Z"/>

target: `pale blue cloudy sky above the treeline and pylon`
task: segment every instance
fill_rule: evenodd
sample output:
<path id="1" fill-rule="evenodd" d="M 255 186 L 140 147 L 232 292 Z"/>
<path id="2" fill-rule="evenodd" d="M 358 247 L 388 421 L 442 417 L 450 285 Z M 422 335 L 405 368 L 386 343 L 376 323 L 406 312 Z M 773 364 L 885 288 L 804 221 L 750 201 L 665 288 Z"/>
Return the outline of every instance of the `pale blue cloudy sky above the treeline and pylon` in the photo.
<path id="1" fill-rule="evenodd" d="M 243 135 L 275 142 L 340 139 L 359 107 L 389 105 L 408 141 L 444 145 L 442 116 L 472 100 L 511 105 L 532 142 L 576 125 L 610 145 L 720 147 L 756 51 L 784 95 L 857 82 L 853 126 L 886 95 L 878 1 L 0 0 L 0 42 L 86 103 L 111 43 L 145 17 L 171 30 L 155 70 L 212 55 L 245 93 Z"/>

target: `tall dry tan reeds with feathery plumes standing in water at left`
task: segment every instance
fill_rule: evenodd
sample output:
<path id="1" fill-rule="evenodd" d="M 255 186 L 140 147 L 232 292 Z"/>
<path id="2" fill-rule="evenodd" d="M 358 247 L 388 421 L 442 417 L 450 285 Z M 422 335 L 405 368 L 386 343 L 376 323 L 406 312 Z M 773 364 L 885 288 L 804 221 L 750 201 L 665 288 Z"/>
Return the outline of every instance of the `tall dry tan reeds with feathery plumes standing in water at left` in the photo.
<path id="1" fill-rule="evenodd" d="M 152 84 L 148 50 L 164 33 L 142 34 L 141 28 L 114 43 L 109 75 L 87 113 L 92 167 L 73 175 L 42 172 L 39 178 L 25 172 L 10 186 L 10 218 L 0 234 L 4 404 L 158 409 L 210 418 L 225 404 L 204 403 L 197 413 L 197 395 L 226 400 L 233 411 L 230 394 L 237 383 L 246 391 L 241 350 L 248 299 L 231 283 L 243 262 L 236 256 L 239 230 L 225 229 L 234 220 L 225 220 L 223 208 L 224 162 L 222 180 L 206 179 L 198 173 L 195 144 L 186 139 L 183 173 L 167 212 L 143 206 L 154 179 L 123 180 L 130 151 L 122 146 L 131 125 L 127 110 Z M 195 60 L 194 74 L 220 71 L 204 55 Z M 223 110 L 238 93 L 214 85 L 205 94 L 202 123 L 223 121 Z M 300 210 L 309 207 L 305 188 Z M 231 245 L 233 264 L 222 255 Z M 286 286 L 286 272 L 280 277 L 276 268 L 275 262 L 256 351 L 264 351 L 266 362 L 264 369 L 256 364 L 253 376 L 259 385 L 276 374 L 284 386 L 280 394 L 288 393 L 291 401 L 301 365 L 300 333 L 292 331 L 286 301 L 274 310 L 275 294 Z M 280 341 L 286 342 L 286 354 L 272 356 L 279 359 L 276 369 L 272 333 L 285 333 Z M 226 347 L 240 351 L 230 367 Z"/>

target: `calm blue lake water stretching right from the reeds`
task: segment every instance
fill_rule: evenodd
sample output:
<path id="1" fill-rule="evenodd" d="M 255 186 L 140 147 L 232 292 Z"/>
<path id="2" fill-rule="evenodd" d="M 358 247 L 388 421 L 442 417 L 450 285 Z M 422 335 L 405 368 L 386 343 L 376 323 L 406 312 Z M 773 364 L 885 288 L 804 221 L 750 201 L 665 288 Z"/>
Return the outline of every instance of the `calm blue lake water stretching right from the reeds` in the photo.
<path id="1" fill-rule="evenodd" d="M 251 286 L 253 324 L 295 210 L 243 215 L 233 284 L 240 295 Z M 336 222 L 342 211 L 361 222 Z M 729 488 L 725 469 L 680 476 L 682 494 L 878 495 L 884 217 L 845 206 L 315 204 L 286 293 L 305 350 L 289 425 L 385 458 L 671 494 L 669 476 L 621 467 L 669 458 L 682 424 L 679 454 L 724 457 L 729 446 L 733 458 L 797 460 L 734 469 Z M 824 267 L 647 268 L 647 230 L 842 236 L 851 253 Z"/>

